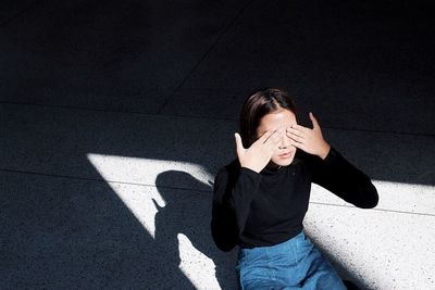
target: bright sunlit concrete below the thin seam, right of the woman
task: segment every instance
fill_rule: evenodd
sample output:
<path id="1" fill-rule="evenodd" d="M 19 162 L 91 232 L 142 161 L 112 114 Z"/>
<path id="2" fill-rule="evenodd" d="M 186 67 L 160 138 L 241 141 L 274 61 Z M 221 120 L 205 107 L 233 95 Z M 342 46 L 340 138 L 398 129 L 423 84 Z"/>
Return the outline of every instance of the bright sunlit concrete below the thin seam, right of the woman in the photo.
<path id="1" fill-rule="evenodd" d="M 304 224 L 308 236 L 334 261 L 343 277 L 358 281 L 363 289 L 435 286 L 433 214 L 310 204 Z"/>

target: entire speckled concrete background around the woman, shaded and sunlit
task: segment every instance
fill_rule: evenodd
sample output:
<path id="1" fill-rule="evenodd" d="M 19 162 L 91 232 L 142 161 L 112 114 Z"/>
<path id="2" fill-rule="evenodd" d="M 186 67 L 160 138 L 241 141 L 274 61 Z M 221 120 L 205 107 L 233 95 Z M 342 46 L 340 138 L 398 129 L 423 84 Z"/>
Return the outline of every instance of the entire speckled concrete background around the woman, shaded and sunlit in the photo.
<path id="1" fill-rule="evenodd" d="M 213 176 L 271 85 L 380 192 L 359 210 L 314 186 L 309 237 L 361 289 L 435 288 L 430 1 L 0 8 L 1 289 L 236 289 Z"/>

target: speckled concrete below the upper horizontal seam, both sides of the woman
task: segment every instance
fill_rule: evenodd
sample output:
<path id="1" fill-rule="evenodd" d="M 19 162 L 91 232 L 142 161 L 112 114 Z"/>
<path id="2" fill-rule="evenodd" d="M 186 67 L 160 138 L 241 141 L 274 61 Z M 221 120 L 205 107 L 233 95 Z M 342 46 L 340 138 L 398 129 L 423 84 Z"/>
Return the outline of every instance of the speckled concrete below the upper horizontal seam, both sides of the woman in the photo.
<path id="1" fill-rule="evenodd" d="M 15 269 L 8 272 L 11 276 L 3 281 L 5 286 L 40 282 L 55 288 L 74 285 L 77 273 L 66 275 L 64 281 L 60 278 L 64 277 L 64 270 L 74 269 L 60 267 L 50 283 L 42 283 L 49 279 L 48 274 L 38 274 L 40 277 L 34 280 L 33 276 L 22 273 L 21 266 L 17 267 L 23 263 L 35 267 L 39 263 L 37 259 L 44 256 L 41 263 L 47 270 L 52 270 L 52 265 L 67 263 L 74 254 L 82 259 L 75 262 L 77 268 L 94 267 L 96 263 L 108 267 L 107 264 L 119 260 L 144 268 L 145 277 L 140 279 L 132 278 L 138 274 L 119 269 L 116 281 L 99 277 L 96 281 L 89 280 L 89 285 L 100 286 L 104 280 L 113 288 L 119 283 L 138 288 L 140 283 L 151 288 L 177 283 L 199 289 L 209 286 L 214 286 L 212 289 L 233 288 L 235 276 L 231 269 L 234 268 L 235 252 L 229 255 L 219 252 L 208 231 L 213 174 L 234 154 L 233 122 L 132 114 L 114 117 L 105 112 L 89 115 L 80 110 L 10 104 L 1 105 L 1 112 L 7 116 L 3 131 L 9 137 L 0 141 L 4 149 L 1 151 L 2 204 L 7 209 L 2 211 L 2 217 L 14 222 L 3 229 L 3 237 L 8 237 L 3 239 L 8 253 L 5 266 Z M 156 123 L 160 126 L 152 125 Z M 198 136 L 197 131 L 203 134 Z M 412 289 L 432 285 L 431 275 L 426 274 L 433 270 L 435 261 L 431 259 L 431 244 L 435 242 L 434 187 L 428 182 L 419 185 L 420 176 L 412 175 L 414 169 L 407 172 L 391 167 L 388 165 L 390 157 L 383 153 L 389 150 L 389 155 L 401 154 L 402 148 L 393 149 L 393 143 L 405 146 L 409 138 L 382 135 L 376 138 L 377 150 L 369 148 L 364 152 L 357 150 L 358 144 L 380 134 L 327 129 L 324 135 L 337 148 L 347 148 L 343 154 L 372 175 L 381 201 L 375 210 L 357 210 L 314 186 L 306 220 L 312 239 L 327 255 L 338 261 L 344 277 L 366 289 Z M 152 136 L 152 139 L 144 136 Z M 411 144 L 405 146 L 409 149 L 408 163 L 412 163 L 413 155 L 434 146 L 433 138 L 419 138 L 417 143 L 420 147 L 413 148 L 415 138 Z M 187 154 L 189 150 L 195 152 L 195 156 Z M 139 153 L 135 155 L 134 151 Z M 364 156 L 369 151 L 372 153 L 368 160 Z M 376 162 L 376 169 L 369 167 Z M 423 163 L 419 160 L 419 166 L 430 168 L 433 162 L 431 157 Z M 377 178 L 390 169 L 407 175 L 414 184 Z M 376 176 L 380 172 L 383 174 Z M 111 222 L 113 219 L 116 223 Z M 123 223 L 127 228 L 120 232 Z M 92 236 L 97 229 L 100 234 Z M 403 237 L 403 232 L 420 236 L 414 239 L 408 235 Z M 133 244 L 123 244 L 119 249 L 124 237 L 130 235 L 144 237 L 136 237 L 133 244 L 138 242 L 140 249 L 149 250 L 139 255 L 140 262 L 123 256 L 123 251 L 127 251 L 124 248 Z M 330 241 L 332 237 L 336 239 L 334 242 Z M 140 239 L 145 241 L 139 242 Z M 408 239 L 412 243 L 406 242 Z M 90 244 L 86 245 L 87 241 Z M 65 242 L 66 245 L 61 247 Z M 46 243 L 51 244 L 51 251 L 61 247 L 59 255 L 45 256 L 44 253 L 50 251 Z M 83 249 L 70 249 L 69 243 L 80 243 Z M 95 247 L 101 248 L 102 256 L 95 254 Z M 161 247 L 164 255 L 159 253 Z M 419 251 L 412 251 L 413 247 L 419 247 Z M 113 252 L 107 254 L 104 251 Z M 412 253 L 413 261 L 420 259 L 427 263 L 405 263 L 409 253 Z M 164 283 L 158 278 L 146 278 L 160 273 L 159 264 L 153 264 L 153 268 L 146 262 L 156 263 L 158 257 L 176 266 L 178 274 L 165 277 Z M 386 261 L 390 261 L 389 264 L 385 264 Z M 402 266 L 393 270 L 393 264 Z M 382 270 L 384 266 L 386 269 Z M 94 273 L 96 269 L 88 270 Z M 98 275 L 109 275 L 107 268 L 99 270 Z M 403 275 L 417 278 L 406 279 Z M 181 277 L 187 280 L 181 282 Z M 17 282 L 20 280 L 22 282 Z"/>

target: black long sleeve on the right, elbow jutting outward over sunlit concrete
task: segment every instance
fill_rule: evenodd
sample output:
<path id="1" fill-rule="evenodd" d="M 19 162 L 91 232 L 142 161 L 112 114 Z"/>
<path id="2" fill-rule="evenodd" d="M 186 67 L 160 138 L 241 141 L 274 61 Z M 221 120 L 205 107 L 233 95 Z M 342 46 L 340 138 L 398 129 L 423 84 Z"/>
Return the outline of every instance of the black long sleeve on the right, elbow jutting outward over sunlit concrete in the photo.
<path id="1" fill-rule="evenodd" d="M 311 155 L 308 163 L 313 182 L 358 207 L 372 209 L 377 205 L 377 191 L 370 178 L 334 148 L 331 148 L 325 160 Z"/>

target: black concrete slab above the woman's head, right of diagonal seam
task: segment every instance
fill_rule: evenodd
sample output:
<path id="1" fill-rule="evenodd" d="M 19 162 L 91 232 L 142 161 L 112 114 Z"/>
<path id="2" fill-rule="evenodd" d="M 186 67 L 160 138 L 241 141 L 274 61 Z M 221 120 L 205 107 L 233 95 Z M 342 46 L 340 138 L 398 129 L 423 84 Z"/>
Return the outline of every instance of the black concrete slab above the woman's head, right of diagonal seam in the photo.
<path id="1" fill-rule="evenodd" d="M 162 111 L 237 118 L 278 86 L 325 126 L 434 135 L 433 3 L 331 2 L 252 1 Z"/>

